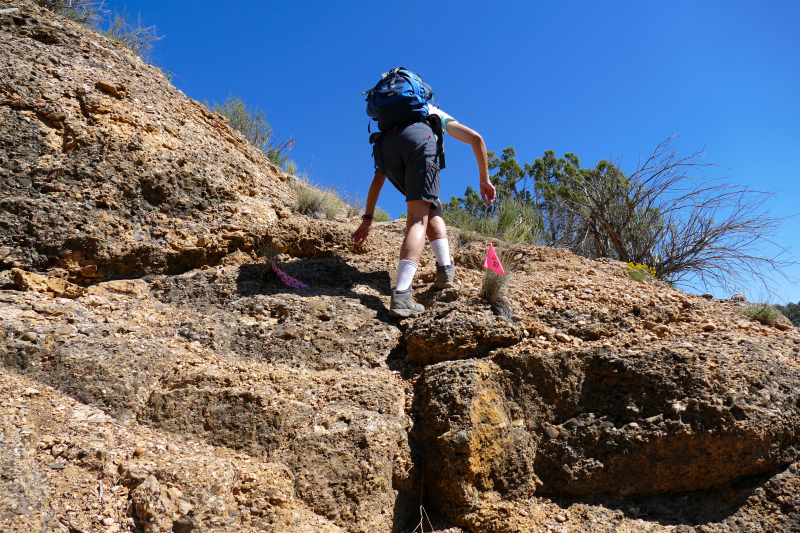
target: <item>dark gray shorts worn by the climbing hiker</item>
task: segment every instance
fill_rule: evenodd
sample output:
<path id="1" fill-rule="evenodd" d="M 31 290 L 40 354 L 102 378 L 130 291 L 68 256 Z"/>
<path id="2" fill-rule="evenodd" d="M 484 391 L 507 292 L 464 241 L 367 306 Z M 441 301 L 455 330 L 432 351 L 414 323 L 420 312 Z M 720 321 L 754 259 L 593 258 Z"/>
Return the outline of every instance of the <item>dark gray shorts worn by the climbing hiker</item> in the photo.
<path id="1" fill-rule="evenodd" d="M 424 122 L 398 126 L 384 132 L 380 143 L 386 177 L 406 202 L 425 200 L 438 205 L 439 163 L 430 126 Z"/>

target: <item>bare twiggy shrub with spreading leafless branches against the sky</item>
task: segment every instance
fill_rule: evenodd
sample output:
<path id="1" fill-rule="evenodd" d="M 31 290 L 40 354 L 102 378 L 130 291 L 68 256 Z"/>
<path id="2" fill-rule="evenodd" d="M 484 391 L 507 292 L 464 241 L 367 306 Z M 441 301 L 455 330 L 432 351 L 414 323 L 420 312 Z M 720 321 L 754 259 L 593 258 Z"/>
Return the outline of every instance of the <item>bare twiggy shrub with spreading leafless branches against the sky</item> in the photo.
<path id="1" fill-rule="evenodd" d="M 774 236 L 789 217 L 770 214 L 772 195 L 693 176 L 717 165 L 701 163 L 703 151 L 681 156 L 673 139 L 659 143 L 627 177 L 619 160 L 561 176 L 574 191 L 555 200 L 572 220 L 562 242 L 578 253 L 653 266 L 656 277 L 693 288 L 755 281 L 767 289 L 775 274 L 786 277 L 794 262 Z"/>

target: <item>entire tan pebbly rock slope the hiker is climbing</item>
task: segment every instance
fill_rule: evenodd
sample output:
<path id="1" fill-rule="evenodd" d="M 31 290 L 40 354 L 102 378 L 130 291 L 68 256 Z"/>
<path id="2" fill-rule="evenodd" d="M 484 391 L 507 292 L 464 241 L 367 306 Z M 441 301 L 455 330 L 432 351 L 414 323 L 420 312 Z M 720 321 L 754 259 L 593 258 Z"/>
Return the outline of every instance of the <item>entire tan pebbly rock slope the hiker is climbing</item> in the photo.
<path id="1" fill-rule="evenodd" d="M 533 246 L 509 322 L 455 233 L 398 322 L 400 222 L 354 249 L 124 48 L 0 35 L 0 530 L 800 529 L 796 329 Z"/>

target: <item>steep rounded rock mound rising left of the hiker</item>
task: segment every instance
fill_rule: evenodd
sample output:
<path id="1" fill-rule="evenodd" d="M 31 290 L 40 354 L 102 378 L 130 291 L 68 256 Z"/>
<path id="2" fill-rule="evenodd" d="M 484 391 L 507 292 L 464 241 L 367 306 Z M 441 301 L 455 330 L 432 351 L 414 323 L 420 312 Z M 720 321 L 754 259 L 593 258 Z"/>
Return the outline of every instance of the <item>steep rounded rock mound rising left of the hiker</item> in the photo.
<path id="1" fill-rule="evenodd" d="M 252 249 L 288 198 L 263 154 L 119 43 L 0 8 L 0 268 L 85 281 Z"/>

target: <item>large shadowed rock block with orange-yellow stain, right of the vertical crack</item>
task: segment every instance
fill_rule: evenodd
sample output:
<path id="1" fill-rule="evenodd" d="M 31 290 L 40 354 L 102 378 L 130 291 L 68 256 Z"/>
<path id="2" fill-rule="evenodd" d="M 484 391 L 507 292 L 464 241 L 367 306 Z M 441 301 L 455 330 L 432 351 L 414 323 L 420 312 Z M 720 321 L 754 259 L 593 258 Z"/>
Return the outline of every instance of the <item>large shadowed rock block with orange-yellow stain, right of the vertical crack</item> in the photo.
<path id="1" fill-rule="evenodd" d="M 692 341 L 696 346 L 708 342 Z M 743 365 L 740 375 L 759 380 L 769 374 L 779 380 L 770 394 L 777 394 L 771 401 L 783 415 L 745 403 L 716 403 L 716 385 L 706 382 L 693 356 L 680 350 L 645 349 L 624 357 L 614 350 L 575 350 L 552 359 L 501 352 L 479 363 L 428 367 L 422 431 L 426 455 L 442 461 L 426 464 L 426 481 L 447 502 L 443 508 L 449 516 L 457 517 L 485 491 L 530 494 L 539 480 L 543 486 L 537 494 L 645 495 L 711 487 L 766 465 L 786 464 L 793 452 L 779 452 L 768 443 L 791 438 L 793 420 L 800 417 L 778 385 L 797 379 L 797 370 L 771 361 L 768 352 L 750 348 L 749 353 L 738 363 Z M 668 368 L 675 381 L 653 380 L 656 369 Z M 685 397 L 689 391 L 677 411 L 659 400 Z M 625 405 L 636 407 L 626 412 L 620 408 Z M 656 413 L 665 412 L 675 414 L 657 423 Z M 630 420 L 631 413 L 642 423 Z M 546 431 L 567 419 L 570 429 L 563 435 Z M 603 429 L 604 419 L 613 425 L 631 423 L 620 433 Z M 441 438 L 460 431 L 471 436 L 468 448 L 455 449 Z"/>

